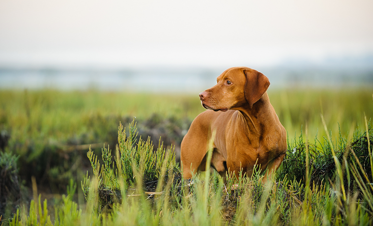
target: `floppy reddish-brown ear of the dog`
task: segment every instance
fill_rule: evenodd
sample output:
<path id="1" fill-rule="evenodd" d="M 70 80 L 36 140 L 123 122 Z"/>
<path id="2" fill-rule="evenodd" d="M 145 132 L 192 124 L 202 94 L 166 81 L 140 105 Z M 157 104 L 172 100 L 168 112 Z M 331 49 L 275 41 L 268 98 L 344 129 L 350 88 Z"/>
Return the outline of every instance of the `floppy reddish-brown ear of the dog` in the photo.
<path id="1" fill-rule="evenodd" d="M 267 76 L 253 69 L 244 69 L 246 75 L 245 98 L 250 107 L 257 102 L 270 86 Z"/>

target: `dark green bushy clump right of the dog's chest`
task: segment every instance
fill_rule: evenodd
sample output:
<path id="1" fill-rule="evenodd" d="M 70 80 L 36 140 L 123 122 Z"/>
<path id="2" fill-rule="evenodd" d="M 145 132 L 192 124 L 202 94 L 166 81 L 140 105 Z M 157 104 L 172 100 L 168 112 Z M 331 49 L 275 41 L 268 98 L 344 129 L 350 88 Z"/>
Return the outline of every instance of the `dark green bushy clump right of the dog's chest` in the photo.
<path id="1" fill-rule="evenodd" d="M 368 128 L 369 139 L 373 140 L 373 130 L 371 126 Z M 331 135 L 330 135 L 331 136 Z M 353 139 L 348 142 L 339 134 L 339 142 L 330 143 L 327 138 L 323 138 L 324 142 L 320 142 L 315 138 L 314 143 L 306 143 L 303 134 L 298 140 L 294 140 L 291 144 L 288 142 L 288 152 L 277 174 L 277 179 L 283 180 L 295 179 L 298 182 L 306 180 L 306 165 L 310 169 L 310 183 L 322 184 L 328 180 L 335 180 L 336 162 L 334 160 L 332 148 L 338 148 L 335 151 L 335 156 L 338 161 L 343 164 L 346 160 L 347 165 L 356 163 L 356 157 L 361 163 L 364 172 L 368 178 L 372 178 L 372 166 L 369 156 L 368 136 L 367 132 L 358 132 L 354 134 Z M 370 150 L 373 150 L 373 142 L 370 142 Z M 308 151 L 308 163 L 306 162 L 306 152 Z M 354 156 L 355 153 L 356 157 Z M 345 186 L 352 186 L 354 178 L 344 179 Z"/>

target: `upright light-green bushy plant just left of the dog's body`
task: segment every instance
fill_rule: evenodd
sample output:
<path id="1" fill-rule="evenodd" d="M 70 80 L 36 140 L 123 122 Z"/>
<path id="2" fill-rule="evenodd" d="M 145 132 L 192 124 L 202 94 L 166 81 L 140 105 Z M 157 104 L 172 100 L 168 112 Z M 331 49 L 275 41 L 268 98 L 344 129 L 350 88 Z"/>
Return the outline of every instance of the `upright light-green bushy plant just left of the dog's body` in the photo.
<path id="1" fill-rule="evenodd" d="M 121 191 L 140 186 L 140 190 L 154 192 L 161 177 L 162 185 L 158 189 L 163 189 L 170 179 L 174 185 L 181 182 L 181 173 L 175 163 L 172 146 L 166 151 L 163 144 L 160 144 L 153 150 L 150 137 L 146 141 L 140 137 L 136 143 L 136 131 L 136 123 L 132 121 L 129 124 L 129 135 L 126 136 L 126 129 L 119 123 L 119 145 L 116 148 L 115 162 L 112 161 L 109 147 L 102 149 L 102 165 L 91 149 L 87 153 L 98 181 L 99 212 L 111 209 L 114 202 L 120 203 Z M 89 192 L 92 192 L 91 188 L 92 183 L 87 176 L 82 183 L 86 198 L 89 197 Z"/>

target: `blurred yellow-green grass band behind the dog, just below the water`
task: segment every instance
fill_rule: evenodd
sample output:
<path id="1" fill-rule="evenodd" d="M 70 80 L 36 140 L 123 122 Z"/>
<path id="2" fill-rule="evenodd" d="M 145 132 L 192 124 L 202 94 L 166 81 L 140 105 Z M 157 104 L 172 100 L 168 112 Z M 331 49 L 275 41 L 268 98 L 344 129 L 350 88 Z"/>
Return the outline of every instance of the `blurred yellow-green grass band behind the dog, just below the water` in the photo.
<path id="1" fill-rule="evenodd" d="M 293 138 L 301 125 L 308 123 L 309 134 L 324 133 L 320 114 L 328 129 L 338 134 L 354 131 L 373 115 L 372 90 L 269 90 L 271 104 L 280 121 Z M 198 95 L 146 93 L 4 91 L 0 90 L 0 126 L 12 130 L 12 138 L 34 137 L 35 140 L 68 139 L 83 134 L 90 124 L 102 117 L 113 120 L 123 116 L 149 118 L 154 113 L 164 117 L 194 119 L 205 109 Z M 107 123 L 107 122 L 105 122 Z M 114 122 L 118 125 L 118 122 Z M 91 125 L 97 126 L 97 124 Z M 99 125 L 104 126 L 104 123 Z M 24 135 L 27 134 L 27 137 Z M 37 139 L 36 139 L 37 138 Z"/>

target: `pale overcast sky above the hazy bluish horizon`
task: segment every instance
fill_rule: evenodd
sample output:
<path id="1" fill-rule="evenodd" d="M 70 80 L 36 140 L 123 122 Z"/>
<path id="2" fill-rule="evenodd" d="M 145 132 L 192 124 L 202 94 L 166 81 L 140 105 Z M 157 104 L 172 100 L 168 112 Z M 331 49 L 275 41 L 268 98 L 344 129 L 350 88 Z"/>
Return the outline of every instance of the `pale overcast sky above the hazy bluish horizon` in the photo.
<path id="1" fill-rule="evenodd" d="M 0 0 L 0 66 L 252 67 L 372 53 L 372 0 Z"/>

